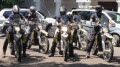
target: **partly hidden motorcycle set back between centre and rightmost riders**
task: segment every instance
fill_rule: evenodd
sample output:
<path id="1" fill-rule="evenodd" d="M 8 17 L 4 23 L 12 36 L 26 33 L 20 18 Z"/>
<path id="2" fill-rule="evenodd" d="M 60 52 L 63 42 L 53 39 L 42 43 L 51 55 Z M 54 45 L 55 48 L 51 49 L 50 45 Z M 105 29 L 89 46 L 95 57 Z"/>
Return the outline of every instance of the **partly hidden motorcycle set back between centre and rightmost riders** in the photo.
<path id="1" fill-rule="evenodd" d="M 75 47 L 81 50 L 86 50 L 88 32 L 82 28 L 82 24 L 74 23 L 73 29 L 75 30 L 74 39 L 73 39 L 73 43 L 75 43 Z"/>

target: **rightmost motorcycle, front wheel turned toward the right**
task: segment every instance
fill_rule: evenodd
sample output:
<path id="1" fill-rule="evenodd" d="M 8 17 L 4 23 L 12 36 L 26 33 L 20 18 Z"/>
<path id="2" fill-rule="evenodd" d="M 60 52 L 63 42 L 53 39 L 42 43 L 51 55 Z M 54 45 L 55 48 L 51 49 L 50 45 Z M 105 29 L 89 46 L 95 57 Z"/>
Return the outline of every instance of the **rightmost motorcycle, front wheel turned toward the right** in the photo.
<path id="1" fill-rule="evenodd" d="M 98 35 L 102 34 L 102 48 L 103 48 L 103 58 L 105 61 L 110 62 L 113 58 L 113 54 L 114 54 L 114 48 L 112 45 L 112 35 L 109 34 L 108 29 L 107 28 L 102 28 L 101 32 L 96 33 L 95 35 L 95 41 L 94 41 L 94 45 L 92 47 L 92 54 L 93 55 L 97 55 L 99 49 L 98 49 Z"/>

